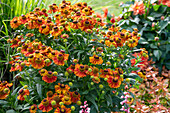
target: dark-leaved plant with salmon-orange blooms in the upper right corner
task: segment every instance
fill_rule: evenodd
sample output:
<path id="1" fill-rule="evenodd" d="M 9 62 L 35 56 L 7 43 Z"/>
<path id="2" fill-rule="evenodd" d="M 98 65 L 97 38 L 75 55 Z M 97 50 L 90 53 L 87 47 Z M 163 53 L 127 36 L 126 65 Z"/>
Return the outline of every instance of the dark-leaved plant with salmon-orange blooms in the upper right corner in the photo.
<path id="1" fill-rule="evenodd" d="M 146 48 L 150 58 L 156 62 L 159 70 L 165 66 L 170 69 L 170 7 L 168 1 L 140 0 L 128 1 L 123 7 L 118 24 L 130 31 L 137 28 L 141 34 L 138 48 Z M 110 18 L 108 18 L 110 19 Z"/>

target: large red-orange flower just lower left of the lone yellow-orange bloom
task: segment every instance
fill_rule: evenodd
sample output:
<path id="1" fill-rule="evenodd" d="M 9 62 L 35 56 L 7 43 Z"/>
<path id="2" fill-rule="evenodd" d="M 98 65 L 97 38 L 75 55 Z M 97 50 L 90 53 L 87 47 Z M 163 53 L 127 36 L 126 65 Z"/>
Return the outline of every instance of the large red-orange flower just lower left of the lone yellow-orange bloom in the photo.
<path id="1" fill-rule="evenodd" d="M 74 74 L 78 77 L 85 77 L 87 70 L 85 69 L 85 65 L 76 64 L 74 69 Z"/>

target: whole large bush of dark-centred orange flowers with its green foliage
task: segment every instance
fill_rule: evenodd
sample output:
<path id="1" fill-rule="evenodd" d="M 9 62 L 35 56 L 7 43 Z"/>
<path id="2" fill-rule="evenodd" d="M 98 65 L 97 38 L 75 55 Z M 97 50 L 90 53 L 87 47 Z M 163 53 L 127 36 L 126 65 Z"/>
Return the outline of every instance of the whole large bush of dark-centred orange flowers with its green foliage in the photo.
<path id="1" fill-rule="evenodd" d="M 132 54 L 148 55 L 135 48 L 137 29 L 106 26 L 88 3 L 63 0 L 48 9 L 36 7 L 10 25 L 14 76 L 12 83 L 1 82 L 1 112 L 120 111 L 125 86 L 141 80 L 132 71 L 143 59 L 132 65 Z"/>

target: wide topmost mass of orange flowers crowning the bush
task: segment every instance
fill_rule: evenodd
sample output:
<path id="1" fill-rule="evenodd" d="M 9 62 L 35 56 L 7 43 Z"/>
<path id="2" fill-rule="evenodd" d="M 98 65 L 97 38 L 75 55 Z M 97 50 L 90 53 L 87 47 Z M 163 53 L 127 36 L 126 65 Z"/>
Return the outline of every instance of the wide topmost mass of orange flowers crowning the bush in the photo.
<path id="1" fill-rule="evenodd" d="M 49 8 L 47 11 L 37 7 L 33 12 L 13 18 L 10 22 L 11 28 L 24 25 L 27 29 L 38 29 L 42 34 L 51 34 L 58 38 L 62 31 L 70 31 L 70 28 L 86 31 L 104 25 L 100 18 L 92 17 L 94 11 L 85 2 L 71 5 L 71 2 L 63 0 L 59 7 L 52 4 Z M 54 17 L 51 18 L 47 13 L 53 14 Z"/>

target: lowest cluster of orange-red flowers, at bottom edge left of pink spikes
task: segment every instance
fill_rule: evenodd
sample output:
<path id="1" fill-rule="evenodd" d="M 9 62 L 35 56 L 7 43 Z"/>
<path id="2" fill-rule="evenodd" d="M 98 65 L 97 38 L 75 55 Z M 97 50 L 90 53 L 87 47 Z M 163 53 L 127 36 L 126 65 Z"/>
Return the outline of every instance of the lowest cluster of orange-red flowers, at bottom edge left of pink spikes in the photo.
<path id="1" fill-rule="evenodd" d="M 38 108 L 42 112 L 49 112 L 54 108 L 54 113 L 71 113 L 71 109 L 65 105 L 81 103 L 81 101 L 80 94 L 77 91 L 71 92 L 69 89 L 68 85 L 58 83 L 58 85 L 55 85 L 55 93 L 48 91 L 47 97 L 41 101 Z"/>

